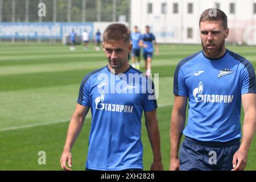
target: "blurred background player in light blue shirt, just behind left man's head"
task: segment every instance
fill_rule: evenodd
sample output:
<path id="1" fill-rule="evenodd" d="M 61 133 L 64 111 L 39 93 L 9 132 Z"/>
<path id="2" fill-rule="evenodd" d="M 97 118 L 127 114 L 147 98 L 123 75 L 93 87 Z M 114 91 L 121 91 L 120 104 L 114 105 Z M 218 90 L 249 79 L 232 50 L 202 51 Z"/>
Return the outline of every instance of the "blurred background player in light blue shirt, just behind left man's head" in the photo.
<path id="1" fill-rule="evenodd" d="M 131 66 L 140 69 L 141 61 L 141 46 L 139 46 L 139 41 L 141 40 L 141 32 L 138 31 L 138 27 L 134 26 L 134 32 L 131 33 L 131 43 L 133 44 L 133 49 L 131 51 Z M 136 57 L 138 62 L 136 62 Z"/>

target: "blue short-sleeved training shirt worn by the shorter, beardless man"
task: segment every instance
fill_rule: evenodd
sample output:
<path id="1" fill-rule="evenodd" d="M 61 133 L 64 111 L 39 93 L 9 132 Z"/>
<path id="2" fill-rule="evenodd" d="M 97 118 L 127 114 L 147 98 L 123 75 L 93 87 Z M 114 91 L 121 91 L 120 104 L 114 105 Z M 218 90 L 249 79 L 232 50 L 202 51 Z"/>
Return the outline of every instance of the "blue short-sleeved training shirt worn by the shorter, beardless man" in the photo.
<path id="1" fill-rule="evenodd" d="M 85 76 L 77 103 L 90 106 L 92 126 L 85 167 L 95 170 L 143 168 L 141 142 L 142 112 L 156 109 L 154 84 L 137 69 L 130 67 L 115 75 L 108 66 Z M 126 79 L 127 78 L 127 79 Z M 146 78 L 146 85 L 142 81 Z"/>

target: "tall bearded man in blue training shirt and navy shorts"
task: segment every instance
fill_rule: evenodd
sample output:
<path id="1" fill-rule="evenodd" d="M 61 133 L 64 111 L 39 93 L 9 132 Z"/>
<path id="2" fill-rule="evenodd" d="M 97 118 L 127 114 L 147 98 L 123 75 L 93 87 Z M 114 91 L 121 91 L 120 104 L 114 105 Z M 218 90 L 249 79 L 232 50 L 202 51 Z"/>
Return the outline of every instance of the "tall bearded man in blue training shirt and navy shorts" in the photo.
<path id="1" fill-rule="evenodd" d="M 203 50 L 181 60 L 174 75 L 170 169 L 243 170 L 256 126 L 254 68 L 225 48 L 229 28 L 223 11 L 205 10 L 199 24 Z"/>

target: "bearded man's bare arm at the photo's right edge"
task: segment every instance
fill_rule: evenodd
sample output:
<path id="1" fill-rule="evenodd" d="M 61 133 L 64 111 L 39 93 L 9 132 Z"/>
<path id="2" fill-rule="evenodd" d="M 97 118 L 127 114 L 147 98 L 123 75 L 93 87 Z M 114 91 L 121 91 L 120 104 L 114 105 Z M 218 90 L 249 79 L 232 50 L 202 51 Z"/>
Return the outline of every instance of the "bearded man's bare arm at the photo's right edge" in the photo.
<path id="1" fill-rule="evenodd" d="M 232 171 L 244 170 L 247 163 L 247 155 L 256 127 L 256 94 L 242 94 L 242 105 L 245 112 L 242 128 L 242 142 L 240 148 L 233 156 Z"/>

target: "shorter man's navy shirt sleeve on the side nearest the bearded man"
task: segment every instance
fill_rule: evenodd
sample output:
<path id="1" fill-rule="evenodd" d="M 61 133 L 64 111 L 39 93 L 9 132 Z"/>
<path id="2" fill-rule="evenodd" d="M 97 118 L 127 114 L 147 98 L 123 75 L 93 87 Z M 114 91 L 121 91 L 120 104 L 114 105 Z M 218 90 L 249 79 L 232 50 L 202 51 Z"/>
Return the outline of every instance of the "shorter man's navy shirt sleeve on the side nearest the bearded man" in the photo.
<path id="1" fill-rule="evenodd" d="M 146 94 L 144 94 L 143 110 L 147 112 L 147 111 L 154 110 L 157 107 L 158 107 L 158 104 L 155 98 L 154 82 L 150 78 L 147 78 L 147 91 L 146 91 Z"/>

